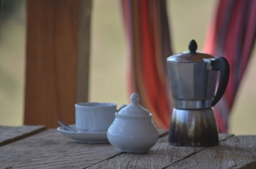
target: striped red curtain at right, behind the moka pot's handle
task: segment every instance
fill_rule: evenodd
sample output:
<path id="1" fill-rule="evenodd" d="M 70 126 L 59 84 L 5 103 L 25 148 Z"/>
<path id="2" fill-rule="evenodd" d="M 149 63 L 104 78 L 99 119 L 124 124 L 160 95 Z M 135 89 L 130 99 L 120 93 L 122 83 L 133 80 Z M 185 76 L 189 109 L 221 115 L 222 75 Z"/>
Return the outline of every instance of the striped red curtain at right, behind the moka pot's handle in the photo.
<path id="1" fill-rule="evenodd" d="M 204 52 L 227 58 L 231 67 L 227 90 L 214 109 L 221 132 L 227 132 L 228 117 L 251 57 L 255 36 L 256 1 L 219 0 Z"/>

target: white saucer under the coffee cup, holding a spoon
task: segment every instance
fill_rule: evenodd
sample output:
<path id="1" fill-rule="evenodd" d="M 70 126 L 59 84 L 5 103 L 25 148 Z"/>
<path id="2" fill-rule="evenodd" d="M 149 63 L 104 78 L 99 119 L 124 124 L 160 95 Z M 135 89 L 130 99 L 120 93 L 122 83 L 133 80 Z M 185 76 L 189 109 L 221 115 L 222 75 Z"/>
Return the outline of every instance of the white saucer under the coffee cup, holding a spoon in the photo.
<path id="1" fill-rule="evenodd" d="M 75 124 L 69 125 L 70 128 L 73 128 L 76 131 Z M 57 128 L 63 135 L 68 138 L 72 138 L 74 141 L 79 143 L 109 143 L 106 138 L 106 131 L 99 132 L 72 132 L 68 131 L 62 126 Z"/>

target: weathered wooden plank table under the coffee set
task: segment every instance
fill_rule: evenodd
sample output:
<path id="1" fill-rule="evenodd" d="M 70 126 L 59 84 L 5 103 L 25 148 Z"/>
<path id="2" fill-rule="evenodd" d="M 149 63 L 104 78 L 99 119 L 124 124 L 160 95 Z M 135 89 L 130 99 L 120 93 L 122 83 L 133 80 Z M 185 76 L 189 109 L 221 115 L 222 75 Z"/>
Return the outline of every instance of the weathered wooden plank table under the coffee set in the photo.
<path id="1" fill-rule="evenodd" d="M 79 144 L 44 126 L 0 126 L 0 168 L 256 168 L 256 136 L 220 134 L 214 147 L 175 147 L 160 131 L 146 154 Z"/>

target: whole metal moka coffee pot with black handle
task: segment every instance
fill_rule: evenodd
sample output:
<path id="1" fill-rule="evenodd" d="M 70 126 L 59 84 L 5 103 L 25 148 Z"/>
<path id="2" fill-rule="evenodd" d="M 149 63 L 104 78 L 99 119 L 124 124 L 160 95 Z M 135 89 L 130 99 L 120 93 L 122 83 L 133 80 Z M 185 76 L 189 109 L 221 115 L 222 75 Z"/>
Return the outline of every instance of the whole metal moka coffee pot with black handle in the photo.
<path id="1" fill-rule="evenodd" d="M 229 64 L 197 51 L 192 40 L 190 51 L 167 58 L 173 97 L 169 144 L 212 146 L 219 142 L 214 107 L 224 94 L 229 79 Z M 220 71 L 217 85 L 217 71 Z"/>

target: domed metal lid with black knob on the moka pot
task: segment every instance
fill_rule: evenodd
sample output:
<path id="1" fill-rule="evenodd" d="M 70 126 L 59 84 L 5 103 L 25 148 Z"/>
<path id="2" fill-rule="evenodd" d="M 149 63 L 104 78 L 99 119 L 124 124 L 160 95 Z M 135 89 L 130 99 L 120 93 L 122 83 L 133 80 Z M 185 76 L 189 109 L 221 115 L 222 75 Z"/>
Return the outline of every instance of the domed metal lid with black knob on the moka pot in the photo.
<path id="1" fill-rule="evenodd" d="M 212 55 L 208 55 L 204 52 L 197 51 L 197 42 L 194 39 L 190 41 L 188 48 L 190 51 L 184 51 L 180 54 L 172 55 L 169 58 L 167 58 L 167 61 L 198 63 L 198 62 L 204 62 L 205 58 L 214 58 L 214 56 Z"/>

